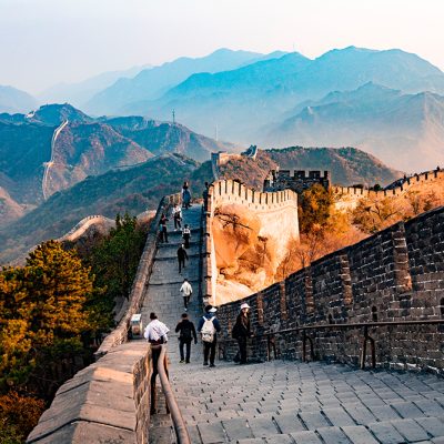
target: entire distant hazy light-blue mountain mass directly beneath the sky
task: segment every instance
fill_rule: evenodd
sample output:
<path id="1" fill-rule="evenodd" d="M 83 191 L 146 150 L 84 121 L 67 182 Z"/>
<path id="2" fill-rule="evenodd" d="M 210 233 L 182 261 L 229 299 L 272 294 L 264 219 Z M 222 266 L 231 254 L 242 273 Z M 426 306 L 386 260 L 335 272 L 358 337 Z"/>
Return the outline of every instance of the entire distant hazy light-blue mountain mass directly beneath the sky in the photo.
<path id="1" fill-rule="evenodd" d="M 352 145 L 412 171 L 444 161 L 442 94 L 444 73 L 398 49 L 349 47 L 314 60 L 221 50 L 118 81 L 89 107 L 163 120 L 175 110 L 202 134 L 276 148 Z"/>

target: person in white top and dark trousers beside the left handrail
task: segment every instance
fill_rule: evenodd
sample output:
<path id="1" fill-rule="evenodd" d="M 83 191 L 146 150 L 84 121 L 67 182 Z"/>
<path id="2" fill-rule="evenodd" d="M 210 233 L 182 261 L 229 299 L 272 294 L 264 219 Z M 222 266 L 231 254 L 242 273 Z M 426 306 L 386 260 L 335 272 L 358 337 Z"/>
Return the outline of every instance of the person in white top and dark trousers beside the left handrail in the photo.
<path id="1" fill-rule="evenodd" d="M 151 359 L 153 363 L 153 371 L 151 374 L 151 414 L 155 414 L 155 397 L 157 397 L 157 390 L 155 390 L 155 377 L 158 376 L 158 363 L 159 363 L 159 357 L 160 353 L 162 351 L 162 344 L 167 344 L 168 342 L 168 336 L 167 333 L 170 331 L 168 326 L 163 323 L 160 322 L 158 319 L 158 315 L 155 313 L 150 313 L 150 320 L 151 322 L 147 325 L 147 329 L 143 333 L 144 339 L 150 343 L 151 346 Z M 165 372 L 168 376 L 168 361 L 167 361 L 167 355 L 165 355 L 165 361 L 164 361 L 164 366 L 165 366 Z"/>

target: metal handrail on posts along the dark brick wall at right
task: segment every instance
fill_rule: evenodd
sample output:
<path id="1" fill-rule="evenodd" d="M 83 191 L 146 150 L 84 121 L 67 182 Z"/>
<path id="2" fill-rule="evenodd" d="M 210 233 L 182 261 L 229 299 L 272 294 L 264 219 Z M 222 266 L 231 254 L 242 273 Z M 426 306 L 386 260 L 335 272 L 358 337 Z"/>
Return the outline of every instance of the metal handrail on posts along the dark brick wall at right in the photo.
<path id="1" fill-rule="evenodd" d="M 276 359 L 276 349 L 275 349 L 275 341 L 274 336 L 279 334 L 285 333 L 299 333 L 302 332 L 302 361 L 306 362 L 306 343 L 310 345 L 310 355 L 312 361 L 314 361 L 314 345 L 313 340 L 306 333 L 307 331 L 316 331 L 316 330 L 352 330 L 352 329 L 364 329 L 364 339 L 362 342 L 362 353 L 360 357 L 360 367 L 362 370 L 365 369 L 365 360 L 366 360 L 366 347 L 367 342 L 370 342 L 371 346 L 371 361 L 372 367 L 375 369 L 376 366 L 376 353 L 375 353 L 375 340 L 369 335 L 369 329 L 379 327 L 379 326 L 398 326 L 398 325 L 444 325 L 444 320 L 418 320 L 418 321 L 374 321 L 374 322 L 356 322 L 356 323 L 342 323 L 342 324 L 315 324 L 315 325 L 304 325 L 304 326 L 296 326 L 292 329 L 283 329 L 278 331 L 271 332 L 263 332 L 259 334 L 254 334 L 251 337 L 260 339 L 266 337 L 266 347 L 268 347 L 268 355 L 271 354 L 271 349 L 273 349 L 274 359 Z M 232 339 L 224 339 L 221 340 L 220 343 L 224 342 L 234 342 Z"/>

